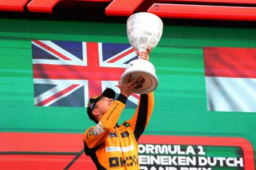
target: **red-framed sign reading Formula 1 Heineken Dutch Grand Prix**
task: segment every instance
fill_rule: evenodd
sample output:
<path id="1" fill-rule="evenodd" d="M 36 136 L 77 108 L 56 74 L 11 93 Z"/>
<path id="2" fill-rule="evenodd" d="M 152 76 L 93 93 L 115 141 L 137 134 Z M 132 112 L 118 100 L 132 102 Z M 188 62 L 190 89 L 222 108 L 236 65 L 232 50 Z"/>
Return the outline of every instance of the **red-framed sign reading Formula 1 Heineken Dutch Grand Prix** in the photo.
<path id="1" fill-rule="evenodd" d="M 142 170 L 254 169 L 254 150 L 244 138 L 143 135 Z"/>

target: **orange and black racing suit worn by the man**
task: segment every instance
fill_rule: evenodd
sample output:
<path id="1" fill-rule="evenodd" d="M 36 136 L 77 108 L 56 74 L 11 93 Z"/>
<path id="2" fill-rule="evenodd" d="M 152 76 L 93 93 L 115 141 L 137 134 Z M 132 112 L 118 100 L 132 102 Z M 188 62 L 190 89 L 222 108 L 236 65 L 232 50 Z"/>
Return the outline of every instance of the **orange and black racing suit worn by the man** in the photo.
<path id="1" fill-rule="evenodd" d="M 102 120 L 84 133 L 85 154 L 97 169 L 140 169 L 137 142 L 151 117 L 154 94 L 142 94 L 133 117 L 118 126 L 126 100 L 119 94 Z"/>

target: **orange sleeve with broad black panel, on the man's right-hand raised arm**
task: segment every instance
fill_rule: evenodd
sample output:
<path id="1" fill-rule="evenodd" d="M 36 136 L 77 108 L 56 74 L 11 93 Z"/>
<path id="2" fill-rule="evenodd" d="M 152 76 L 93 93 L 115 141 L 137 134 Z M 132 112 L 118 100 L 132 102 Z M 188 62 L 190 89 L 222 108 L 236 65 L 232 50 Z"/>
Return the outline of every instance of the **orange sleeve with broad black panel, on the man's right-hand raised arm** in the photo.
<path id="1" fill-rule="evenodd" d="M 141 134 L 146 129 L 149 123 L 154 108 L 154 94 L 150 92 L 148 95 L 143 94 L 140 96 L 138 107 L 133 117 L 127 121 L 132 127 L 133 134 L 136 140 L 140 138 Z"/>

